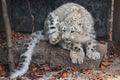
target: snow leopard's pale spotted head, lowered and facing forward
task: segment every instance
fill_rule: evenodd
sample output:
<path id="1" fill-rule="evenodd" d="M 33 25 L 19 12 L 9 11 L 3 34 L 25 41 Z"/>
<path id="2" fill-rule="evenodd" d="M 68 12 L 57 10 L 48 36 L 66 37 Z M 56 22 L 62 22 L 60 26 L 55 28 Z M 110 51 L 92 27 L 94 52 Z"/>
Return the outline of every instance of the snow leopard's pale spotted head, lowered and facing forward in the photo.
<path id="1" fill-rule="evenodd" d="M 83 34 L 83 28 L 78 24 L 68 24 L 61 22 L 60 31 L 62 40 L 66 43 L 79 42 L 80 36 Z"/>

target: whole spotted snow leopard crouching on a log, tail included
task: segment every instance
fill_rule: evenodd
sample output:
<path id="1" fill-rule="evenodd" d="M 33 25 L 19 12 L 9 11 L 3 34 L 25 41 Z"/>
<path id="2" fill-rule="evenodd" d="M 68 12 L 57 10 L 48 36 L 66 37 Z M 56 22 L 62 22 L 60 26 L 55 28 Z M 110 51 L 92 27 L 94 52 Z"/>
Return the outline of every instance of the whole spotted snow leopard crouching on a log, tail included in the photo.
<path id="1" fill-rule="evenodd" d="M 27 72 L 32 52 L 40 40 L 47 40 L 52 45 L 59 44 L 63 49 L 69 50 L 73 63 L 83 63 L 85 52 L 87 57 L 99 59 L 100 54 L 96 51 L 95 38 L 91 14 L 81 5 L 66 3 L 49 13 L 43 31 L 36 31 L 27 38 L 19 64 L 8 77 L 13 79 Z M 83 46 L 85 46 L 85 52 Z"/>

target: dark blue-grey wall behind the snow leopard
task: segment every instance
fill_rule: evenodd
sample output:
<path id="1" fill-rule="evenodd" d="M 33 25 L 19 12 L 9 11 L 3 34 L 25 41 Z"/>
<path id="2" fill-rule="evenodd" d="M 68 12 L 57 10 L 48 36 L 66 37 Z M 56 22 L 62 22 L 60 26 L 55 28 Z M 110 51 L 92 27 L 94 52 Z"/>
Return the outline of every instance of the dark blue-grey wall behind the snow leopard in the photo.
<path id="1" fill-rule="evenodd" d="M 111 0 L 28 0 L 34 15 L 35 31 L 43 29 L 47 14 L 60 5 L 74 2 L 84 6 L 94 17 L 97 38 L 109 38 Z M 1 2 L 0 2 L 1 4 Z M 32 19 L 27 0 L 7 0 L 12 29 L 19 32 L 32 31 Z M 4 30 L 2 10 L 0 6 L 0 31 Z"/>

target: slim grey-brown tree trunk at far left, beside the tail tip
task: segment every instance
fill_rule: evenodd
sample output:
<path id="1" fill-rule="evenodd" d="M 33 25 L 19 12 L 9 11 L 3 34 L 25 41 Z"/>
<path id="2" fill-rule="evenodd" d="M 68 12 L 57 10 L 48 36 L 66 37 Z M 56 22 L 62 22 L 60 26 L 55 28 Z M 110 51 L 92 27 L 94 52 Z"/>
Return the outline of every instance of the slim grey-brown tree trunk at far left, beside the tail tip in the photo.
<path id="1" fill-rule="evenodd" d="M 10 26 L 8 12 L 7 12 L 6 0 L 1 0 L 1 2 L 2 2 L 3 19 L 5 23 L 5 28 L 6 28 L 5 30 L 6 30 L 7 44 L 8 44 L 8 62 L 9 62 L 10 69 L 13 69 L 14 63 L 13 63 L 13 54 L 12 54 L 11 26 Z"/>

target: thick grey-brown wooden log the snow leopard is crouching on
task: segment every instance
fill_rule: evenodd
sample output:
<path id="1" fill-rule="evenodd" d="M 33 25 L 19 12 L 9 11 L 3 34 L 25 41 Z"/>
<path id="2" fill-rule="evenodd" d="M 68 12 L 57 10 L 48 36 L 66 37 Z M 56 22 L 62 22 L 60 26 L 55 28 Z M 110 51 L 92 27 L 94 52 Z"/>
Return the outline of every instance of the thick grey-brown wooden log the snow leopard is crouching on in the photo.
<path id="1" fill-rule="evenodd" d="M 62 49 L 58 45 L 53 46 L 47 42 L 40 42 L 40 44 L 34 50 L 32 62 L 48 63 L 51 66 L 58 64 L 62 67 L 76 65 L 80 68 L 98 70 L 101 61 L 104 59 L 107 53 L 107 43 L 99 43 L 97 46 L 97 50 L 101 55 L 99 60 L 92 60 L 85 57 L 84 63 L 73 64 L 70 59 L 69 51 Z"/>

